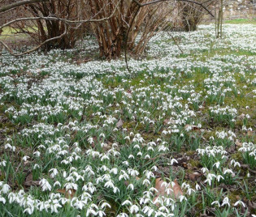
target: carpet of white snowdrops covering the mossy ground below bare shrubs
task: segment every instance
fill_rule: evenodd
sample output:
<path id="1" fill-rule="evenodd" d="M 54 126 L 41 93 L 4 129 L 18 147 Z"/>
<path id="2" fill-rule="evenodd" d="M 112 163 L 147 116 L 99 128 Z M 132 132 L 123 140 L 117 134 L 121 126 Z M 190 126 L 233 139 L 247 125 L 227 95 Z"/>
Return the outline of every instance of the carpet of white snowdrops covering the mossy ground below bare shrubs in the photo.
<path id="1" fill-rule="evenodd" d="M 161 32 L 130 72 L 89 38 L 3 51 L 0 215 L 256 216 L 256 25 L 223 32 Z"/>

